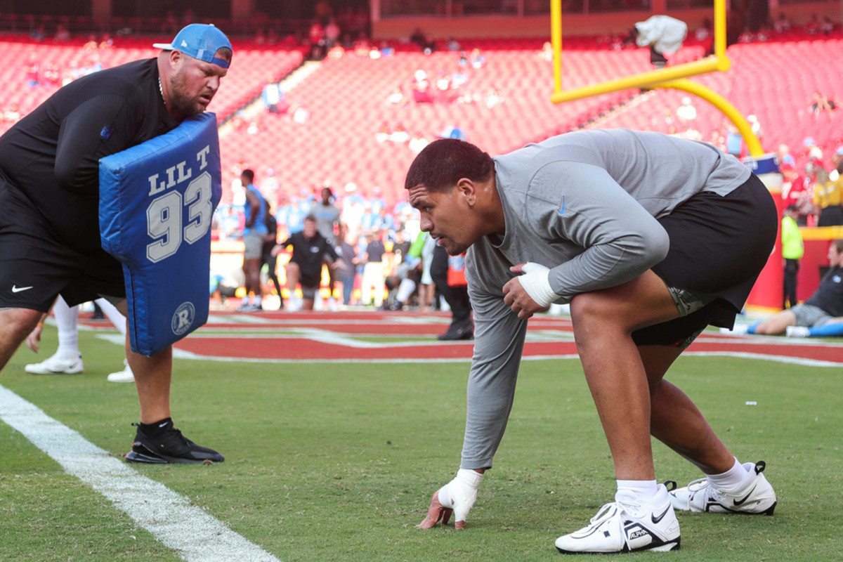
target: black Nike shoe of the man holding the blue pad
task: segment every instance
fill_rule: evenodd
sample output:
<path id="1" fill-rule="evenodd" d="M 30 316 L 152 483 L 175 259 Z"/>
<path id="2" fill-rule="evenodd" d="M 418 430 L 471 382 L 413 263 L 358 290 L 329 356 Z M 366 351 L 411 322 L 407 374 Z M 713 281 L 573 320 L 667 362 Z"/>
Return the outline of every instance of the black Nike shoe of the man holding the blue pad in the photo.
<path id="1" fill-rule="evenodd" d="M 181 431 L 175 429 L 172 422 L 164 432 L 150 436 L 146 434 L 140 424 L 137 426 L 135 442 L 132 443 L 132 451 L 126 454 L 127 463 L 222 463 L 223 455 L 209 449 L 200 447 L 187 437 L 181 435 Z"/>

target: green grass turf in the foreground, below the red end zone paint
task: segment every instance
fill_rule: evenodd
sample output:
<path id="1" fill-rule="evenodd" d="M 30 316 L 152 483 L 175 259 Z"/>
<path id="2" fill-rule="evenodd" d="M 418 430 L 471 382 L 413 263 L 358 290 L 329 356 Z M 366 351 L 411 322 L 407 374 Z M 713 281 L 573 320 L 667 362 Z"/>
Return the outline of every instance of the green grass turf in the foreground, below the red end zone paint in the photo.
<path id="1" fill-rule="evenodd" d="M 132 385 L 105 382 L 121 348 L 80 338 L 83 374 L 26 375 L 35 356 L 21 349 L 0 383 L 99 447 L 125 453 L 137 397 Z M 55 349 L 54 329 L 44 349 Z M 524 362 L 469 528 L 414 528 L 457 469 L 467 372 L 467 363 L 176 361 L 177 426 L 227 460 L 134 466 L 285 562 L 558 559 L 556 537 L 582 527 L 615 489 L 578 361 Z M 839 370 L 687 357 L 669 378 L 742 461 L 767 462 L 779 506 L 774 517 L 680 514 L 681 550 L 635 558 L 840 559 Z M 660 444 L 655 457 L 660 480 L 682 485 L 699 475 Z M 179 558 L 0 424 L 0 559 Z"/>

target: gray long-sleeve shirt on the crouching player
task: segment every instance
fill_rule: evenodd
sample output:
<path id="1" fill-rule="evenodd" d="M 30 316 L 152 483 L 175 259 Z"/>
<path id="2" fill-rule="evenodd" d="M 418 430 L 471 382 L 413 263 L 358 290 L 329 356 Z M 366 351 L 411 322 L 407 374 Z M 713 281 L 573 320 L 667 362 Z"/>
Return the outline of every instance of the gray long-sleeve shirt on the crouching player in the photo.
<path id="1" fill-rule="evenodd" d="M 728 195 L 750 174 L 709 144 L 622 129 L 555 136 L 494 160 L 506 232 L 467 255 L 475 351 L 462 468 L 491 467 L 512 409 L 527 322 L 503 302 L 510 266 L 549 267 L 560 303 L 618 286 L 667 254 L 659 217 L 701 191 Z"/>

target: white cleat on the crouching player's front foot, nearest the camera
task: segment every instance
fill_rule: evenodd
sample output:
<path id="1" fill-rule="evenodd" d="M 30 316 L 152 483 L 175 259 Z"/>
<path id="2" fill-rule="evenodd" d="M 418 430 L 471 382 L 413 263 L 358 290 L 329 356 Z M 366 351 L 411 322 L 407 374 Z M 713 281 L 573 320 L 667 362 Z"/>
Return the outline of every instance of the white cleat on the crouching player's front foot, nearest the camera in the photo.
<path id="1" fill-rule="evenodd" d="M 575 533 L 556 539 L 561 554 L 620 554 L 638 550 L 668 552 L 679 549 L 679 522 L 668 490 L 659 484 L 653 505 L 642 505 L 634 494 L 615 494 L 591 522 Z"/>

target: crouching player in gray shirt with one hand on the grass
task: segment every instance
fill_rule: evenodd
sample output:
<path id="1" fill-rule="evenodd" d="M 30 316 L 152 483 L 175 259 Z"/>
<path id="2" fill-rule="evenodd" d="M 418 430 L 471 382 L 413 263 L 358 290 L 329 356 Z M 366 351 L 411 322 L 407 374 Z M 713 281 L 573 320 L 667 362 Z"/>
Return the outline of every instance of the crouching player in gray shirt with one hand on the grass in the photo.
<path id="1" fill-rule="evenodd" d="M 419 527 L 465 526 L 506 429 L 527 320 L 571 304 L 577 351 L 615 462 L 617 493 L 562 553 L 679 548 L 674 509 L 772 514 L 765 463 L 740 463 L 664 374 L 707 324 L 730 327 L 771 253 L 776 206 L 716 147 L 658 133 L 579 131 L 491 158 L 428 145 L 405 187 L 421 229 L 468 250 L 475 351 L 462 461 Z M 658 484 L 650 436 L 701 469 Z M 675 484 L 673 484 L 675 488 Z"/>

